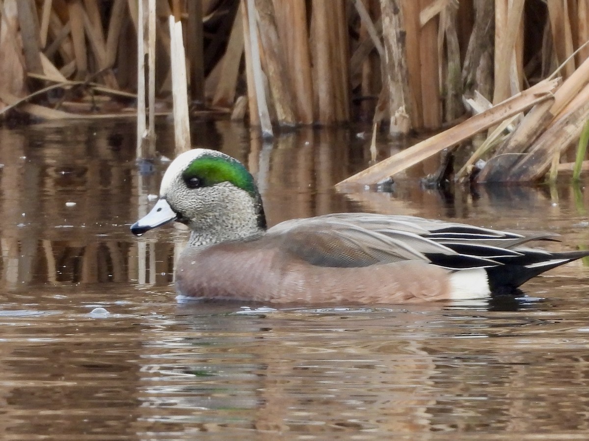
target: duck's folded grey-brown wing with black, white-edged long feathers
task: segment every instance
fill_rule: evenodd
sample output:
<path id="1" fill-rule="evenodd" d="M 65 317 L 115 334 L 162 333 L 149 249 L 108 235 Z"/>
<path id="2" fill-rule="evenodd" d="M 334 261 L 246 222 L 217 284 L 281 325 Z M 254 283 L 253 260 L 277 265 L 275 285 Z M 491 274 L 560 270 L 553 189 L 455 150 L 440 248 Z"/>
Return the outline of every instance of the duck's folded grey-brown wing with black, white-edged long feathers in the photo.
<path id="1" fill-rule="evenodd" d="M 494 258 L 518 255 L 519 250 L 509 249 L 521 243 L 550 239 L 555 235 L 493 230 L 415 216 L 335 213 L 287 220 L 270 228 L 267 236 L 279 240 L 284 252 L 313 265 L 369 266 L 401 260 L 431 262 L 428 255 L 436 255 L 442 256 L 442 260 L 443 256 L 471 259 L 473 267 L 480 268 L 501 265 Z M 459 253 L 452 247 L 465 251 Z"/>

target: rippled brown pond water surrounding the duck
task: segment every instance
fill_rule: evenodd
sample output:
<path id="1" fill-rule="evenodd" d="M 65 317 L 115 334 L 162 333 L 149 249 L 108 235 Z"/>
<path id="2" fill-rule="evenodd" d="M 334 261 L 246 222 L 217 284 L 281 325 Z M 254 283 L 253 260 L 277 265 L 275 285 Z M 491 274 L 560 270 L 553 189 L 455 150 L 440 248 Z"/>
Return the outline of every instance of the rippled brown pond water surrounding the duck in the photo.
<path id="1" fill-rule="evenodd" d="M 169 127 L 158 133 L 172 158 Z M 548 229 L 561 234 L 554 250 L 589 244 L 587 196 L 567 186 L 409 181 L 339 194 L 333 183 L 368 162 L 355 131 L 302 131 L 269 148 L 239 125 L 198 122 L 193 140 L 248 164 L 270 224 L 372 211 Z M 589 436 L 583 262 L 532 280 L 514 303 L 178 303 L 170 282 L 186 231 L 128 231 L 166 167 L 138 173 L 133 125 L 48 123 L 0 129 L 0 141 L 2 439 Z"/>

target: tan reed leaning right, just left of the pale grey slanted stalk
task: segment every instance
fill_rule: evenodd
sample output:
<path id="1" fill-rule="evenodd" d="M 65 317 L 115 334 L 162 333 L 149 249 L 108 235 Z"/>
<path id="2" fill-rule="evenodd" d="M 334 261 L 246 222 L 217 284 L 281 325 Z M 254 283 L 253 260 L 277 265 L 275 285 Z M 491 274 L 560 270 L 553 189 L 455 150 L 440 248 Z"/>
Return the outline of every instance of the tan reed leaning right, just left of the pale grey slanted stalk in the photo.
<path id="1" fill-rule="evenodd" d="M 233 28 L 231 29 L 227 49 L 220 62 L 222 67 L 221 74 L 219 75 L 219 83 L 217 83 L 213 97 L 214 106 L 231 107 L 235 101 L 241 54 L 243 54 L 243 17 L 241 16 L 241 11 L 242 7 L 239 5 L 233 21 Z"/>

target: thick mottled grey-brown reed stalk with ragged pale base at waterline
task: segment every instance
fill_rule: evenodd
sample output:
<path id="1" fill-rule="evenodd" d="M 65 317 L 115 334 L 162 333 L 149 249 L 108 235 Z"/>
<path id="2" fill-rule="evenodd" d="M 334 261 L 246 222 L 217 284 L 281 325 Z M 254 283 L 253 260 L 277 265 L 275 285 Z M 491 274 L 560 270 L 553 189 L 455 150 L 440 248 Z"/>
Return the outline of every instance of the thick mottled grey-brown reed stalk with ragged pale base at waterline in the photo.
<path id="1" fill-rule="evenodd" d="M 381 0 L 382 33 L 385 46 L 386 87 L 392 135 L 406 135 L 411 129 L 411 93 L 408 78 L 403 15 L 396 0 Z"/>

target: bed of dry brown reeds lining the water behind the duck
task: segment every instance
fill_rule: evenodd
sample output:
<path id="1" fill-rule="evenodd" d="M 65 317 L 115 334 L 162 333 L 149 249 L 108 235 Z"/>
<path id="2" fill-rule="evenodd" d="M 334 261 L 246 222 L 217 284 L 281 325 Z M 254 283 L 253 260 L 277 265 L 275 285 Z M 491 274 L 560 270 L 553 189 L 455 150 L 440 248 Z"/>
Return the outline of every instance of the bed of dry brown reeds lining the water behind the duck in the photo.
<path id="1" fill-rule="evenodd" d="M 266 136 L 451 127 L 342 186 L 481 132 L 456 179 L 554 179 L 589 119 L 589 0 L 0 0 L 0 14 L 6 121 L 139 115 L 140 139 L 170 112 L 226 113 Z"/>

